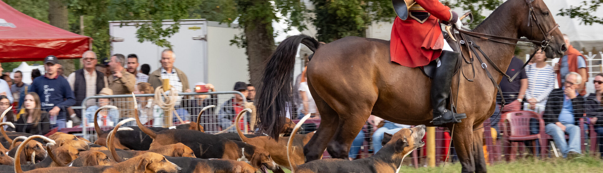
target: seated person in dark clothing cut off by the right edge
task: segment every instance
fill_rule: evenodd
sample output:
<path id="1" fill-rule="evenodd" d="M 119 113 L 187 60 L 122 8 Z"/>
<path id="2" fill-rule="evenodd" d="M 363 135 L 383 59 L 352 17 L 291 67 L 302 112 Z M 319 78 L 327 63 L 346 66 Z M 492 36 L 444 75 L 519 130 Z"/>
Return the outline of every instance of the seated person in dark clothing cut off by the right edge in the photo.
<path id="1" fill-rule="evenodd" d="M 586 115 L 590 118 L 590 124 L 595 124 L 595 131 L 599 139 L 599 153 L 603 152 L 603 73 L 595 76 L 595 93 L 590 93 L 584 98 Z M 603 157 L 603 156 L 602 156 Z"/>

